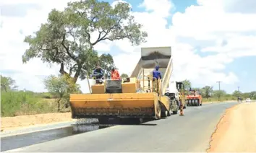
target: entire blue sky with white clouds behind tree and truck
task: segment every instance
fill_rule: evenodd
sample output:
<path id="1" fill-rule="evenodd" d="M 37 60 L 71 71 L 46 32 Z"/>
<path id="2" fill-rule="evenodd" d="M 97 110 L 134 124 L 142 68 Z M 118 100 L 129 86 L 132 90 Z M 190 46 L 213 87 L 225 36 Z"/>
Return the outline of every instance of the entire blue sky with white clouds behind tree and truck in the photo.
<path id="1" fill-rule="evenodd" d="M 51 9 L 63 10 L 70 0 L 0 0 L 0 74 L 12 77 L 19 89 L 46 92 L 43 79 L 59 74 L 59 66 L 39 58 L 22 64 L 26 35 L 45 23 Z M 74 0 L 72 0 L 74 1 Z M 108 0 L 112 6 L 120 1 Z M 192 87 L 213 86 L 226 92 L 240 87 L 256 90 L 255 0 L 127 0 L 132 15 L 148 32 L 147 43 L 132 47 L 128 40 L 98 43 L 99 53 L 111 53 L 120 73 L 131 74 L 140 47 L 171 46 L 171 80 L 189 79 Z M 82 92 L 87 82 L 79 80 Z"/>

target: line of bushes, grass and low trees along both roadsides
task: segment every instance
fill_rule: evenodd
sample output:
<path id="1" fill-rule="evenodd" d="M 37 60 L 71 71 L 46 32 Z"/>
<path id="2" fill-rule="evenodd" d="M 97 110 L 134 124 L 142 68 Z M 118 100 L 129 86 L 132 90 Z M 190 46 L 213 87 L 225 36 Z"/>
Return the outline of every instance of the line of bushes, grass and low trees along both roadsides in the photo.
<path id="1" fill-rule="evenodd" d="M 31 113 L 49 113 L 54 111 L 61 111 L 65 108 L 69 110 L 69 95 L 71 93 L 82 93 L 80 86 L 74 84 L 73 79 L 67 75 L 49 76 L 43 80 L 48 92 L 35 93 L 32 91 L 19 91 L 15 80 L 11 77 L 1 77 L 1 115 L 14 116 L 25 115 Z M 127 74 L 121 74 L 122 78 L 129 77 Z M 185 90 L 190 88 L 198 90 L 206 100 L 237 100 L 237 97 L 243 99 L 251 98 L 256 100 L 256 91 L 252 92 L 239 92 L 234 91 L 229 94 L 224 90 L 213 90 L 213 87 L 192 87 L 189 80 L 183 81 Z M 55 101 L 55 106 L 50 106 L 43 100 L 51 99 Z"/>

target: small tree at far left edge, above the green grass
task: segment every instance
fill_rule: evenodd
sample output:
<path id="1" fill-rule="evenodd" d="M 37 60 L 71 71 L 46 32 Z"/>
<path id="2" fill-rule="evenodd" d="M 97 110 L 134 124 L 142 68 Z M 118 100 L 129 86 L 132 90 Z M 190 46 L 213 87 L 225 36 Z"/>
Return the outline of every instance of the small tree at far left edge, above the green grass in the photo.
<path id="1" fill-rule="evenodd" d="M 1 90 L 7 92 L 9 89 L 17 89 L 17 85 L 15 85 L 15 80 L 11 77 L 4 77 L 0 75 L 0 81 L 1 81 Z"/>

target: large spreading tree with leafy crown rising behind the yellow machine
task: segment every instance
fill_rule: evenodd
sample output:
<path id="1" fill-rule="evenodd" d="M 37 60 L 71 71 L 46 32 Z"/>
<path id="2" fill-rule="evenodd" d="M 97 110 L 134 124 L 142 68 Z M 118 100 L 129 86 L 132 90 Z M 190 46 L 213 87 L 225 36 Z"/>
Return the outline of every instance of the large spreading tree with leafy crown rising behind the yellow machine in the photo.
<path id="1" fill-rule="evenodd" d="M 102 61 L 93 49 L 99 42 L 123 39 L 129 40 L 132 45 L 145 42 L 148 34 L 141 30 L 142 25 L 135 22 L 130 11 L 127 3 L 111 6 L 98 0 L 69 2 L 63 12 L 53 9 L 48 14 L 48 22 L 41 25 L 34 36 L 25 38 L 30 47 L 22 56 L 22 61 L 26 63 L 32 58 L 40 58 L 48 64 L 59 64 L 59 72 L 69 74 L 74 82 L 79 77 L 85 79 L 98 61 L 103 67 L 109 61 L 109 54 L 104 54 L 106 61 Z M 92 40 L 92 35 L 97 33 L 98 38 Z"/>

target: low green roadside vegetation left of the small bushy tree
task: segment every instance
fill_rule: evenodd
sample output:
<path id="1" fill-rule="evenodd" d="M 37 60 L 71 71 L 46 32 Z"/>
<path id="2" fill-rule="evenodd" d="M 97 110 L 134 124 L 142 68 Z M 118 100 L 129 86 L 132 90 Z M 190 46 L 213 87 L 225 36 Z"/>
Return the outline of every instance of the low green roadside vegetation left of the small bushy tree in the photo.
<path id="1" fill-rule="evenodd" d="M 1 92 L 1 116 L 50 113 L 54 108 L 33 92 Z"/>

